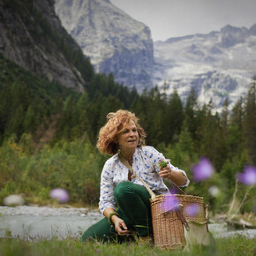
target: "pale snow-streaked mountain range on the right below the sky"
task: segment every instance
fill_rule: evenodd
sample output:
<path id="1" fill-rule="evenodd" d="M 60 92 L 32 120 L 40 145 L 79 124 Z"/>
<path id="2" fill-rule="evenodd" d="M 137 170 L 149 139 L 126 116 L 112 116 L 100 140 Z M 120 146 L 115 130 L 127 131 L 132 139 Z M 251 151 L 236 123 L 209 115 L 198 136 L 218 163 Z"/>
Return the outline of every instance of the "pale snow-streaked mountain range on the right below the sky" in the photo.
<path id="1" fill-rule="evenodd" d="M 212 99 L 220 110 L 228 98 L 231 107 L 255 73 L 256 24 L 154 42 L 154 84 L 167 94 L 176 88 L 183 102 L 194 88 L 200 103 Z"/>

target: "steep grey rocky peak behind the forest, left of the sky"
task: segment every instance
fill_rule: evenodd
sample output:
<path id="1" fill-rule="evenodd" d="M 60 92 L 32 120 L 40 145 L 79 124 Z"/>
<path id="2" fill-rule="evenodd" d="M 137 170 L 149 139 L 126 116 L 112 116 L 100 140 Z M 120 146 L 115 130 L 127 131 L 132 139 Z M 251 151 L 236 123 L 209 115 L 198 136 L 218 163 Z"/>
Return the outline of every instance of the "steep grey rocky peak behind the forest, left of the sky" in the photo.
<path id="1" fill-rule="evenodd" d="M 65 29 L 79 43 L 96 72 L 113 73 L 127 87 L 152 87 L 153 41 L 147 26 L 109 0 L 56 0 Z"/>

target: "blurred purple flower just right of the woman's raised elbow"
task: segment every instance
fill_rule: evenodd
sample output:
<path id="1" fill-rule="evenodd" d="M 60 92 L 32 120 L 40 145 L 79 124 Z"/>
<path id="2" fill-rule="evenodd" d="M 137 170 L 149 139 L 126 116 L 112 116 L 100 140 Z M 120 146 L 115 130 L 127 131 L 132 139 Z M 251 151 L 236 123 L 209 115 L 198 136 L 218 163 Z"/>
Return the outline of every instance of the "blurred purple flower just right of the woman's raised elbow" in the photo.
<path id="1" fill-rule="evenodd" d="M 192 167 L 193 177 L 196 182 L 207 179 L 214 174 L 214 168 L 211 162 L 203 157 L 198 164 Z"/>

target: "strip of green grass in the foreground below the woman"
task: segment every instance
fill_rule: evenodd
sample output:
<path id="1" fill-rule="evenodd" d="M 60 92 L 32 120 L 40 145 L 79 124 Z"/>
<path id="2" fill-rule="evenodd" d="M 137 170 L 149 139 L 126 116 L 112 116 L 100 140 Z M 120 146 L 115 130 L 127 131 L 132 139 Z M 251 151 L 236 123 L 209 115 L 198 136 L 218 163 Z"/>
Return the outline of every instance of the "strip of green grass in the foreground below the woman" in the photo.
<path id="1" fill-rule="evenodd" d="M 37 240 L 24 241 L 19 238 L 0 238 L 0 255 L 255 255 L 255 239 L 244 236 L 217 238 L 215 246 L 201 248 L 195 246 L 190 252 L 177 250 L 161 250 L 151 248 L 147 245 L 136 245 L 135 243 L 102 244 L 98 242 L 81 243 L 78 238 L 67 238 L 64 240 Z"/>

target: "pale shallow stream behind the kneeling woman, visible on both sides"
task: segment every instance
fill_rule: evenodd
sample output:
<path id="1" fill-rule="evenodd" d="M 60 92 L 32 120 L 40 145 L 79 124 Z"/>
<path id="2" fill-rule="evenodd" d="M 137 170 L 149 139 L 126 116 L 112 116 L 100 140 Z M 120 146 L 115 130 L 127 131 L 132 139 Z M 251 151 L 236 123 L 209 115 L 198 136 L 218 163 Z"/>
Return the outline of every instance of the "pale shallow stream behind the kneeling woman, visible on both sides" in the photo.
<path id="1" fill-rule="evenodd" d="M 0 237 L 21 239 L 51 239 L 80 237 L 95 222 L 103 218 L 98 210 L 74 207 L 0 207 Z M 238 234 L 256 238 L 255 229 L 230 230 L 225 223 L 209 223 L 214 237 Z"/>

